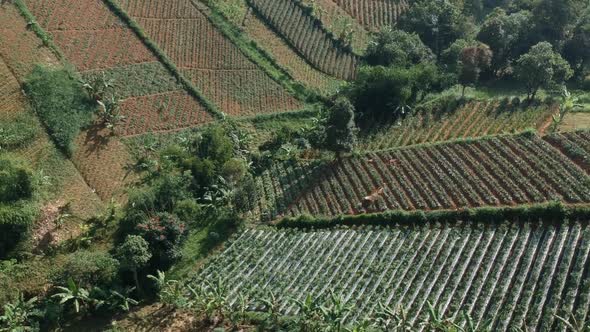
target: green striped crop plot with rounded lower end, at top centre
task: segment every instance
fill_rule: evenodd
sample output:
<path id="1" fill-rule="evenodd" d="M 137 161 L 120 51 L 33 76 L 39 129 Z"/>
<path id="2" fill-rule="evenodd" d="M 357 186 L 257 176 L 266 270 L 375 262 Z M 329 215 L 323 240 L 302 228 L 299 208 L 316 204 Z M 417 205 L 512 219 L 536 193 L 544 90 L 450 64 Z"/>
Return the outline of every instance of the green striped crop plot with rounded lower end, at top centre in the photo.
<path id="1" fill-rule="evenodd" d="M 358 58 L 322 23 L 293 0 L 248 0 L 283 38 L 315 68 L 339 79 L 354 78 Z"/>

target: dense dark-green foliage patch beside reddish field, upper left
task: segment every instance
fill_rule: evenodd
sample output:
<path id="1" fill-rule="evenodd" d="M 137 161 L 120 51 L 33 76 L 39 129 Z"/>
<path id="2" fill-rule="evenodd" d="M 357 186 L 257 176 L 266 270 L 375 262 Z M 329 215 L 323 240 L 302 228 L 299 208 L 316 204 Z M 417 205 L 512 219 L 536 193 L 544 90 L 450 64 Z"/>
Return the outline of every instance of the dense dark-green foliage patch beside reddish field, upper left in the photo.
<path id="1" fill-rule="evenodd" d="M 25 89 L 55 144 L 71 155 L 73 140 L 95 110 L 82 85 L 66 70 L 37 66 Z"/>

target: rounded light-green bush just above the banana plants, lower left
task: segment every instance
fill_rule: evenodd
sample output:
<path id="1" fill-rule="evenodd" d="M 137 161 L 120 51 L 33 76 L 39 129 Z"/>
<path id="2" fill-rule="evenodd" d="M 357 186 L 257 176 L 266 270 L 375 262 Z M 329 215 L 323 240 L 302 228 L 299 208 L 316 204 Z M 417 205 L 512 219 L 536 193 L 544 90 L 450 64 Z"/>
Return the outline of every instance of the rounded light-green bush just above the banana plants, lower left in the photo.
<path id="1" fill-rule="evenodd" d="M 80 287 L 108 286 L 119 270 L 119 261 L 103 251 L 80 250 L 70 254 L 59 271 L 52 275 L 55 284 L 62 285 L 70 278 Z"/>

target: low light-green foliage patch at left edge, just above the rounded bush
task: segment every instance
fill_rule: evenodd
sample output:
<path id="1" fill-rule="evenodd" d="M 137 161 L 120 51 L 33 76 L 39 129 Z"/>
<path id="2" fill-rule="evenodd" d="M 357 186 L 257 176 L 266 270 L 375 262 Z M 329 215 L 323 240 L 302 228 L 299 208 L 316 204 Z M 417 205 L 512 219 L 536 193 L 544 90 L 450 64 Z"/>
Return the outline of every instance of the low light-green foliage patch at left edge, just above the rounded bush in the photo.
<path id="1" fill-rule="evenodd" d="M 0 122 L 0 151 L 22 148 L 39 135 L 39 126 L 28 113 Z"/>

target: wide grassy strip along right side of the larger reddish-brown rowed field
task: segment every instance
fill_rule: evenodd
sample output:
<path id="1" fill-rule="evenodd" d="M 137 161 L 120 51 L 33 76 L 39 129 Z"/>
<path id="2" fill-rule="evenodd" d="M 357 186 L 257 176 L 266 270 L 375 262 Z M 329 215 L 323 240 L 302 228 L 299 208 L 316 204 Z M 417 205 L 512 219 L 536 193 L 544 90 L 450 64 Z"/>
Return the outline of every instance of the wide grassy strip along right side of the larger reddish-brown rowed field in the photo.
<path id="1" fill-rule="evenodd" d="M 192 0 L 198 8 L 195 0 Z M 291 74 L 277 63 L 274 56 L 262 49 L 256 42 L 248 39 L 225 15 L 219 10 L 214 0 L 207 0 L 207 6 L 211 12 L 206 15 L 209 22 L 213 24 L 227 39 L 229 39 L 242 53 L 262 69 L 270 78 L 279 83 L 289 93 L 302 101 L 318 100 L 320 95 L 314 90 L 306 88 L 303 84 L 295 81 Z"/>

